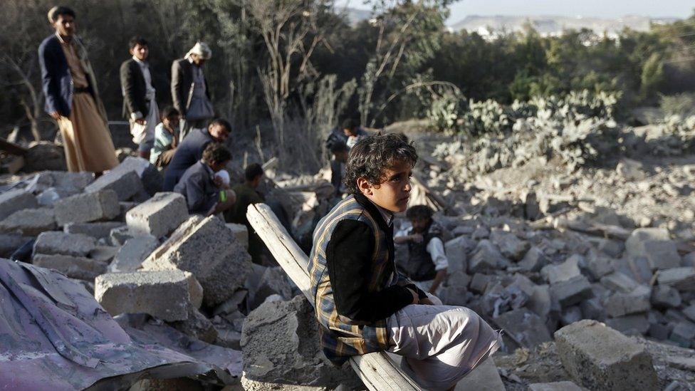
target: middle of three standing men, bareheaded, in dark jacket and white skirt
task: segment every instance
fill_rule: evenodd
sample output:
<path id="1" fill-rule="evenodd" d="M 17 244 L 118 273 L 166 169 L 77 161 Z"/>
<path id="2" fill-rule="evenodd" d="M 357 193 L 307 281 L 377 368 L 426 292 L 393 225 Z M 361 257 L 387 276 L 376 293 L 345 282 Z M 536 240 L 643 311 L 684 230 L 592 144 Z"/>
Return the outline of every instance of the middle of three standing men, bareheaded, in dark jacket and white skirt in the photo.
<path id="1" fill-rule="evenodd" d="M 132 58 L 120 66 L 120 86 L 123 93 L 123 115 L 130 122 L 132 142 L 137 144 L 137 155 L 150 160 L 150 150 L 155 143 L 155 126 L 159 120 L 155 88 L 152 87 L 150 45 L 145 38 L 130 39 Z"/>

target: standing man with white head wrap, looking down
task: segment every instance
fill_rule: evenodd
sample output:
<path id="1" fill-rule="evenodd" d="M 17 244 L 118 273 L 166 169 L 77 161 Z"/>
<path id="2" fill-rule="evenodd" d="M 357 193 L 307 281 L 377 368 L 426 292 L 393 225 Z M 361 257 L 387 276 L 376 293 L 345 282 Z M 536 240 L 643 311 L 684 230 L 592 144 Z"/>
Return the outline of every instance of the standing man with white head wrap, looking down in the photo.
<path id="1" fill-rule="evenodd" d="M 172 64 L 172 100 L 182 120 L 181 140 L 214 117 L 203 64 L 212 56 L 209 46 L 197 42 L 184 58 Z"/>

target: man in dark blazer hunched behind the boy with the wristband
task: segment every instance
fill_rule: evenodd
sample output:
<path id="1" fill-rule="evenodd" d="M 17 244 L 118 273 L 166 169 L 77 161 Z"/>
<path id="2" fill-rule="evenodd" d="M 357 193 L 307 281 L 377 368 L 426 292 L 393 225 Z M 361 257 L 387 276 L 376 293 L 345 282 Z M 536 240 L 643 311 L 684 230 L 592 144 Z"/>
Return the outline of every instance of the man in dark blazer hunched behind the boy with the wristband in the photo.
<path id="1" fill-rule="evenodd" d="M 217 118 L 210 122 L 207 129 L 196 129 L 183 140 L 174 152 L 169 167 L 164 173 L 164 192 L 171 192 L 184 172 L 203 157 L 205 147 L 211 142 L 225 142 L 231 125 L 227 120 Z"/>

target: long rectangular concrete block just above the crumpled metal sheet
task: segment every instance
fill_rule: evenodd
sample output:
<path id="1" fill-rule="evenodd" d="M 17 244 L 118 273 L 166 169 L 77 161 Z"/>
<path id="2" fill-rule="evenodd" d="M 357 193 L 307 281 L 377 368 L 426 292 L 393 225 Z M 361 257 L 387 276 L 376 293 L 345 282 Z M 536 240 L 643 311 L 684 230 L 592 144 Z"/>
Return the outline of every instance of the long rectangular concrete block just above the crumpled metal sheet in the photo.
<path id="1" fill-rule="evenodd" d="M 186 320 L 198 308 L 202 287 L 192 273 L 180 270 L 106 273 L 95 279 L 94 297 L 112 316 L 149 313 L 166 321 Z"/>

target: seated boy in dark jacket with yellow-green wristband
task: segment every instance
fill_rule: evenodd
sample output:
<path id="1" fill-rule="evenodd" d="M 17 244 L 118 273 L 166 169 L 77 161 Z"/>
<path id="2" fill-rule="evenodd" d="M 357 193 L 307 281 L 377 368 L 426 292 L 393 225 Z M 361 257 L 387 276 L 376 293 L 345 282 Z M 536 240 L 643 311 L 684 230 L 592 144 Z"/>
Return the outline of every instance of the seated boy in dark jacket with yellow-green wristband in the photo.
<path id="1" fill-rule="evenodd" d="M 190 214 L 209 216 L 234 207 L 234 190 L 229 189 L 229 182 L 215 174 L 224 170 L 229 160 L 231 152 L 219 142 L 211 142 L 205 147 L 202 159 L 184 172 L 174 192 L 186 197 Z"/>

